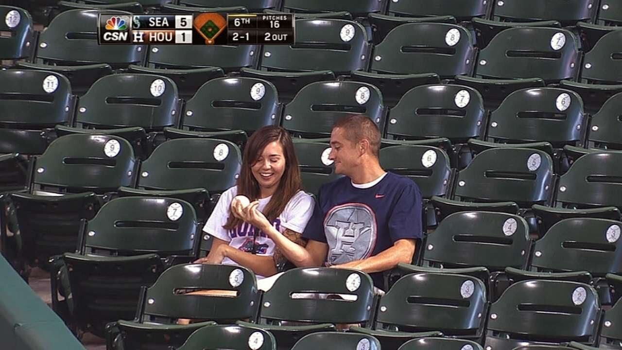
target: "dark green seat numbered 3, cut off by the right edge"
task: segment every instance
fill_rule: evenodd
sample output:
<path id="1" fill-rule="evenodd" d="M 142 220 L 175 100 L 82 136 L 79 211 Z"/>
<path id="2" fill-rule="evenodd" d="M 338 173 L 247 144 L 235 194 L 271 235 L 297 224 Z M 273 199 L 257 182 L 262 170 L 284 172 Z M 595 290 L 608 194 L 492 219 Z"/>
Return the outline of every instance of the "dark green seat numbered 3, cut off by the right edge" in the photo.
<path id="1" fill-rule="evenodd" d="M 510 280 L 563 279 L 590 283 L 601 303 L 611 304 L 607 273 L 622 270 L 616 260 L 622 222 L 606 219 L 572 218 L 553 225 L 533 246 L 526 272 L 508 269 Z M 592 280 L 592 277 L 595 280 Z"/>

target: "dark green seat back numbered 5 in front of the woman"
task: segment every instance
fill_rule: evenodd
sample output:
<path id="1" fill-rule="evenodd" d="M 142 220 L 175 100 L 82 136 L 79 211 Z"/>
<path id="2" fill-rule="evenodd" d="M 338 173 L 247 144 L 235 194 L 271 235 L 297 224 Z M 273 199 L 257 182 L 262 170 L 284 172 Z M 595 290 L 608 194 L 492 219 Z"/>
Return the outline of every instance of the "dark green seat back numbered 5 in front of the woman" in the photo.
<path id="1" fill-rule="evenodd" d="M 199 295 L 201 290 L 214 293 Z M 231 295 L 223 295 L 226 292 Z M 258 304 L 257 281 L 248 268 L 235 265 L 175 265 L 147 288 L 140 321 L 170 324 L 175 323 L 177 318 L 191 318 L 234 322 L 253 319 Z"/>

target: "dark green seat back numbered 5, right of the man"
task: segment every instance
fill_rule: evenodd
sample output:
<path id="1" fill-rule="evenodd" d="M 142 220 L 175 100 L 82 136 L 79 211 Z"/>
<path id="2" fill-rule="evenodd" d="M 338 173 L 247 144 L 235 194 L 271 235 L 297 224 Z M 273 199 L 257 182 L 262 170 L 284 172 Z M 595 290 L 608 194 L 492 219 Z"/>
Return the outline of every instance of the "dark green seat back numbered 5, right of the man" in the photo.
<path id="1" fill-rule="evenodd" d="M 475 156 L 457 176 L 455 197 L 474 202 L 544 203 L 553 184 L 553 161 L 538 149 L 493 148 Z"/>

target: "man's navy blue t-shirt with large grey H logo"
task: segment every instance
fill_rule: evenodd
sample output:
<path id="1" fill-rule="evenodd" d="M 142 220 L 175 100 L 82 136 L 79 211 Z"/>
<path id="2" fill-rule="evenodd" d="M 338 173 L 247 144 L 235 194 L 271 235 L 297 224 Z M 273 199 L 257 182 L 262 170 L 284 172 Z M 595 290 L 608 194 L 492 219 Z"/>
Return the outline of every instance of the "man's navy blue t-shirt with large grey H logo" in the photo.
<path id="1" fill-rule="evenodd" d="M 387 173 L 368 188 L 350 177 L 324 184 L 302 234 L 328 244 L 327 266 L 361 260 L 383 252 L 400 239 L 420 239 L 422 201 L 414 181 Z M 382 273 L 372 273 L 383 288 Z"/>

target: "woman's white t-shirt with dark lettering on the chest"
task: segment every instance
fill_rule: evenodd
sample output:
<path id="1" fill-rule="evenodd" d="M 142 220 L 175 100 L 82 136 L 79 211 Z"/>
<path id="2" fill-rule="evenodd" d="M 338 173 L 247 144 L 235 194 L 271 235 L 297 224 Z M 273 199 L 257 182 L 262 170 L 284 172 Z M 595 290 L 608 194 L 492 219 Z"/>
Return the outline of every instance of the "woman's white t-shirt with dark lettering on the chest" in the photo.
<path id="1" fill-rule="evenodd" d="M 233 197 L 237 196 L 237 194 L 238 186 L 233 186 L 223 192 L 210 218 L 205 223 L 203 231 L 217 239 L 229 242 L 231 247 L 242 250 L 243 252 L 267 256 L 274 255 L 274 241 L 253 225 L 243 222 L 233 230 L 225 230 L 223 228 L 223 225 L 226 224 L 229 217 L 231 201 L 233 201 Z M 259 199 L 259 211 L 263 211 L 268 202 L 270 202 L 271 197 L 272 196 Z M 283 233 L 285 229 L 302 233 L 313 214 L 314 205 L 315 201 L 313 201 L 313 197 L 309 196 L 309 194 L 306 194 L 304 191 L 299 191 L 287 202 L 285 209 L 281 215 L 272 222 L 272 225 L 281 233 Z M 257 230 L 257 234 L 254 234 L 255 230 Z M 223 263 L 237 265 L 236 262 L 230 258 L 225 258 Z M 261 276 L 258 276 L 258 278 L 261 278 Z"/>

